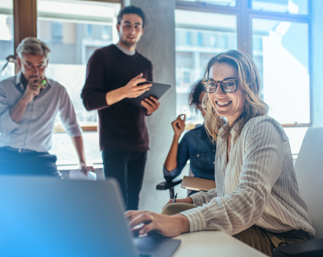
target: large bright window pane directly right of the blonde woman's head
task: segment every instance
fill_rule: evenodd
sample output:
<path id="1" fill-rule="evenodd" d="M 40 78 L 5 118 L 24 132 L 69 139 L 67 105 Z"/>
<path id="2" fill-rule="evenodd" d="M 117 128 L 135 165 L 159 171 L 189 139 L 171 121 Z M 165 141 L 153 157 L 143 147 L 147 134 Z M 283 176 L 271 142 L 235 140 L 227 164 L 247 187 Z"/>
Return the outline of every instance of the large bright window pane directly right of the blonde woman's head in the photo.
<path id="1" fill-rule="evenodd" d="M 252 39 L 269 114 L 283 124 L 310 123 L 308 24 L 254 18 Z"/>

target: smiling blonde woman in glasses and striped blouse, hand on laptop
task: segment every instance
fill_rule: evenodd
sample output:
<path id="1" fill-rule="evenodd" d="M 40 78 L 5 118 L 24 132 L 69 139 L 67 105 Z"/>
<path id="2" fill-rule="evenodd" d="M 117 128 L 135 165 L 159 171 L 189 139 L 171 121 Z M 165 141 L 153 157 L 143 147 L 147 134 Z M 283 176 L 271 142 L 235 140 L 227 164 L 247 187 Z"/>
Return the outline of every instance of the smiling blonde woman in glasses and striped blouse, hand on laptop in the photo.
<path id="1" fill-rule="evenodd" d="M 254 61 L 230 50 L 208 62 L 203 80 L 204 124 L 216 142 L 217 188 L 170 200 L 161 214 L 128 211 L 140 234 L 176 236 L 222 230 L 272 256 L 275 247 L 315 234 L 301 198 L 282 126 L 267 116 Z M 218 135 L 218 136 L 217 136 Z"/>

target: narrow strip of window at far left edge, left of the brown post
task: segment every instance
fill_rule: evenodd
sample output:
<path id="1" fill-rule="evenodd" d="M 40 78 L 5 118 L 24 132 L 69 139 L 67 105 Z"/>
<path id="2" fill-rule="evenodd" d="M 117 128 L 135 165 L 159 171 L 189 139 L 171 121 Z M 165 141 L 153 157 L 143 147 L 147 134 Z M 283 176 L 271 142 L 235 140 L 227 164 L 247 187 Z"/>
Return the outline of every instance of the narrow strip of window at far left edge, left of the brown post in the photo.
<path id="1" fill-rule="evenodd" d="M 6 58 L 14 55 L 14 19 L 12 0 L 0 1 L 0 81 L 15 75 L 15 65 Z M 4 67 L 5 66 L 5 67 Z"/>

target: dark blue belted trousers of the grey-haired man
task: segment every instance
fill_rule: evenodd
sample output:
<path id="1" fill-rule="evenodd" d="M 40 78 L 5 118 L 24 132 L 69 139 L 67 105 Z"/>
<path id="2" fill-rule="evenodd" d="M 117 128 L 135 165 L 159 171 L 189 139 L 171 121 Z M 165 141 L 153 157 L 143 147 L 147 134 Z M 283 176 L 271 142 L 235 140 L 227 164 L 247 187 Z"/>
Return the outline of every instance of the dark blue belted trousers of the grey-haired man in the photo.
<path id="1" fill-rule="evenodd" d="M 0 147 L 0 175 L 61 177 L 56 156 L 11 147 Z"/>

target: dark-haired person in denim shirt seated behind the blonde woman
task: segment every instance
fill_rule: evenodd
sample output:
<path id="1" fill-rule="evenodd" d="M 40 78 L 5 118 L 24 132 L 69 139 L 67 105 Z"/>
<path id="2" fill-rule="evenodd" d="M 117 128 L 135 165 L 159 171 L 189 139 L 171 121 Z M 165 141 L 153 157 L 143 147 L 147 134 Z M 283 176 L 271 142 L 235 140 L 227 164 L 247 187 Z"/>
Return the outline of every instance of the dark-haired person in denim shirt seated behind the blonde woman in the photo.
<path id="1" fill-rule="evenodd" d="M 190 93 L 190 106 L 196 111 L 200 110 L 204 117 L 205 112 L 201 108 L 205 92 L 199 80 L 193 85 Z M 183 116 L 183 119 L 181 118 Z M 212 143 L 206 134 L 205 127 L 199 126 L 187 132 L 180 143 L 178 140 L 185 127 L 185 114 L 181 114 L 172 122 L 174 139 L 164 164 L 164 177 L 167 181 L 180 175 L 188 159 L 194 177 L 214 180 L 214 159 L 216 145 Z M 189 196 L 197 191 L 191 191 Z"/>

